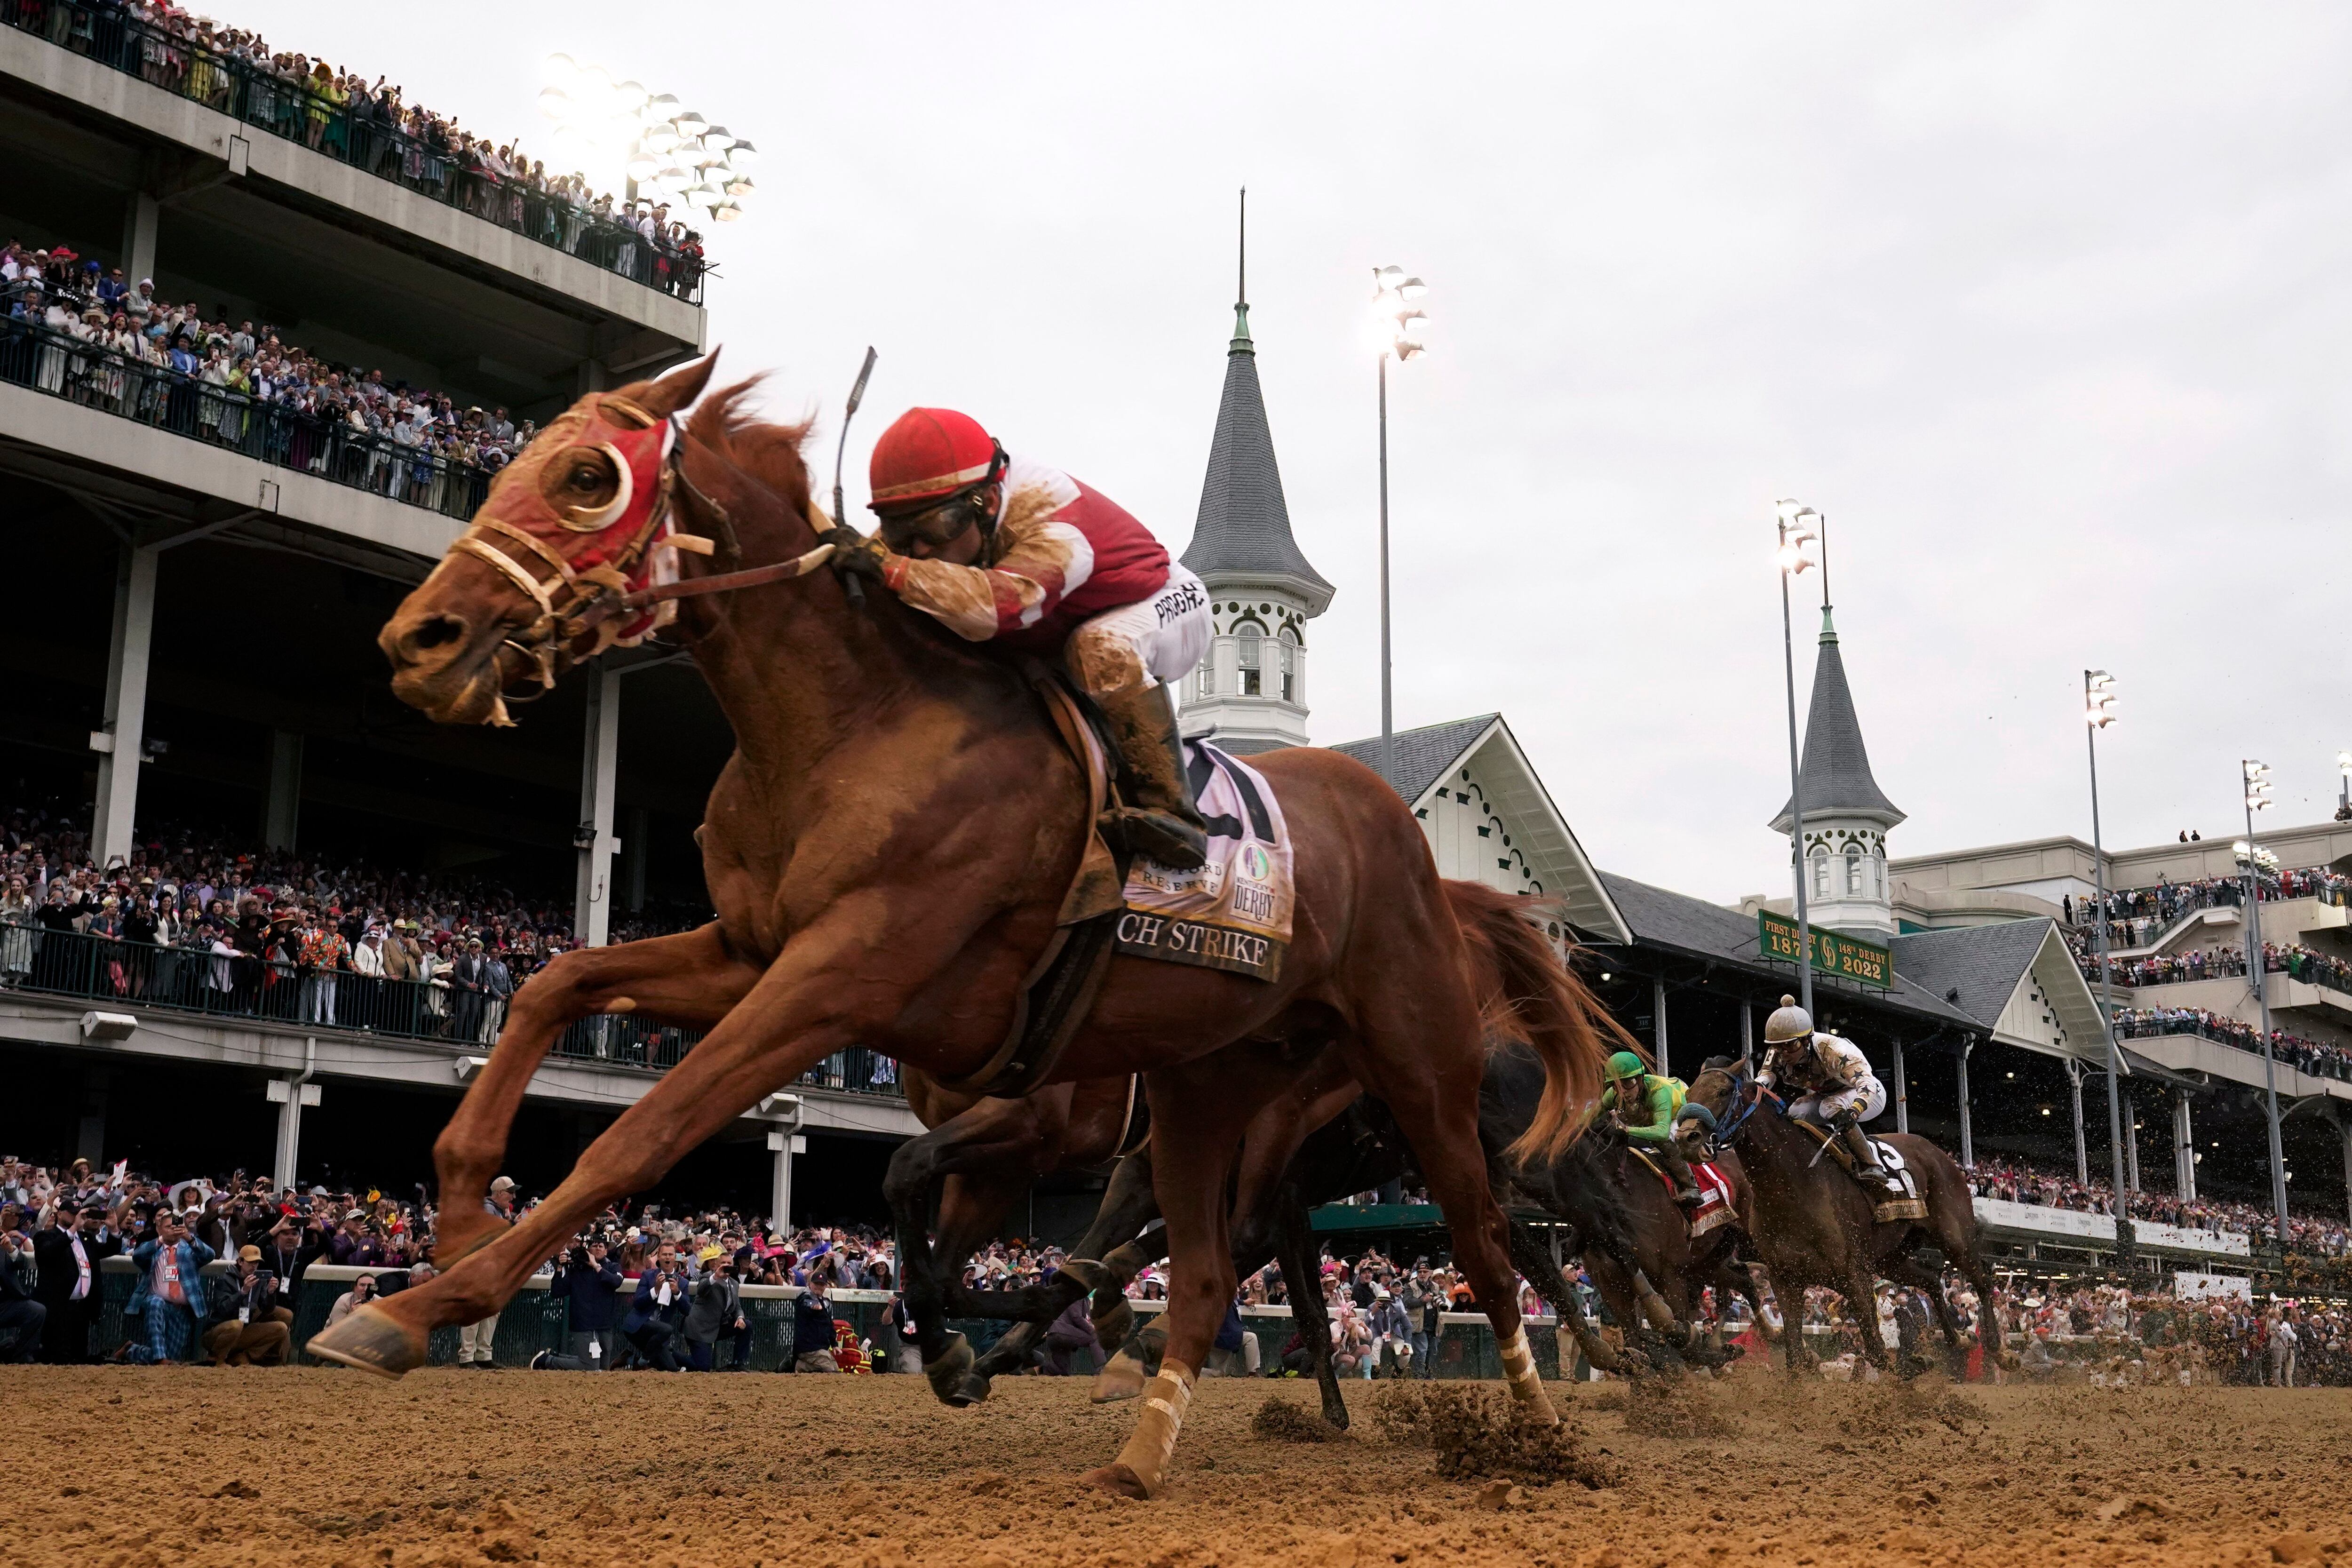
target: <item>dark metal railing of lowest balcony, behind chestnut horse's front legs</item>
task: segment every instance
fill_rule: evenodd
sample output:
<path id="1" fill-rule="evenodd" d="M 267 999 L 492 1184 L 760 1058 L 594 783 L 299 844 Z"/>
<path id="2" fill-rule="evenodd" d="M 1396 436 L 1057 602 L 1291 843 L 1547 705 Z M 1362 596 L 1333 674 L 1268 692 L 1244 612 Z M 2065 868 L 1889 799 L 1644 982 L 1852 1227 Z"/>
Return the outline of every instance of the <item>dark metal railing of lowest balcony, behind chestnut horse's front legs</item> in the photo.
<path id="1" fill-rule="evenodd" d="M 506 1023 L 506 997 L 447 978 L 388 980 L 348 969 L 306 969 L 205 947 L 160 947 L 82 931 L 0 926 L 0 987 L 75 997 L 101 1006 L 249 1018 L 296 1030 L 341 1030 L 487 1051 Z M 699 1030 L 637 1013 L 597 1013 L 564 1030 L 550 1058 L 668 1072 Z M 903 1098 L 898 1063 L 854 1046 L 800 1077 L 802 1088 Z"/>

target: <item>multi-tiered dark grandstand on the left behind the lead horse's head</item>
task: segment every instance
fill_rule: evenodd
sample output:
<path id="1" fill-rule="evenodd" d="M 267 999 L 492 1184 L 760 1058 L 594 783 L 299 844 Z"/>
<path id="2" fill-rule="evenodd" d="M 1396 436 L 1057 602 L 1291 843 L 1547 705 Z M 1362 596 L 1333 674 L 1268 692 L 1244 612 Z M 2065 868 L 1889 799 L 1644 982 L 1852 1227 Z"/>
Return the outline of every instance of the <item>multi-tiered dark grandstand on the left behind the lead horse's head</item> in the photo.
<path id="1" fill-rule="evenodd" d="M 496 884 L 586 943 L 691 912 L 731 748 L 691 670 L 616 656 L 492 741 L 397 705 L 374 635 L 534 421 L 706 348 L 701 273 L 609 221 L 461 200 L 261 80 L 165 80 L 120 9 L 78 16 L 0 14 L 0 538 L 21 592 L 0 816 L 68 820 L 132 870 L 193 839 L 327 882 L 365 858 Z M 487 1051 L 390 990 L 306 1023 L 49 952 L 0 990 L 0 1143 L 28 1159 L 426 1180 Z M 680 1046 L 586 1027 L 517 1126 L 532 1190 Z M 795 1126 L 804 1168 L 868 1206 L 915 1131 L 870 1065 L 833 1070 L 687 1173 L 769 1208 Z"/>

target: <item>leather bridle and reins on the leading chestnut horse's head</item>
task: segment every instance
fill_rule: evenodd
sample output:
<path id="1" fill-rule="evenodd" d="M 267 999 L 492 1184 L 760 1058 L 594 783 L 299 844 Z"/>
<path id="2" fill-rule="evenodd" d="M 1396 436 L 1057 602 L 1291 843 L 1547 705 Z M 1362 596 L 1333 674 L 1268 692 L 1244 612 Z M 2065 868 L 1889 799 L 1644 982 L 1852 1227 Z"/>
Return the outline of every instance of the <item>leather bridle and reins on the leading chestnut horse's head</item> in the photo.
<path id="1" fill-rule="evenodd" d="M 621 400 L 607 400 L 607 404 L 619 404 Z M 628 411 L 637 411 L 633 404 L 623 404 Z M 652 416 L 644 416 L 652 425 Z M 736 541 L 734 520 L 727 508 L 713 501 L 687 477 L 684 451 L 689 444 L 684 423 L 670 416 L 673 440 L 661 458 L 661 482 L 656 484 L 654 501 L 644 512 L 644 522 L 630 531 L 630 536 L 614 550 L 612 559 L 604 559 L 588 569 L 576 569 L 562 550 L 553 548 L 539 534 L 529 529 L 517 529 L 501 517 L 475 517 L 473 527 L 466 529 L 452 545 L 452 550 L 463 550 L 466 555 L 494 567 L 508 581 L 513 581 L 522 592 L 539 604 L 539 618 L 499 644 L 499 651 L 513 649 L 522 656 L 524 670 L 517 675 L 536 675 L 539 691 L 529 698 L 513 701 L 539 701 L 555 689 L 557 677 L 602 654 L 609 646 L 635 646 L 647 635 L 668 625 L 666 604 L 677 599 L 691 599 L 713 592 L 731 592 L 736 588 L 760 588 L 762 583 L 786 583 L 793 578 L 809 576 L 828 559 L 833 559 L 833 545 L 816 545 L 807 555 L 793 559 L 771 562 L 767 567 L 748 567 L 743 571 L 720 571 L 710 576 L 673 578 L 668 583 L 647 581 L 659 569 L 659 555 L 670 552 L 675 562 L 677 555 L 720 555 L 724 559 L 739 559 L 743 555 Z M 623 477 L 628 468 L 621 465 Z M 682 498 L 689 498 L 717 534 L 713 541 L 706 534 L 689 534 L 677 527 L 684 515 Z M 833 520 L 811 498 L 807 503 L 807 520 L 818 534 L 833 527 Z M 501 548 L 506 545 L 506 548 Z M 524 555 L 515 555 L 513 545 L 520 545 Z M 553 576 L 539 576 L 539 564 L 553 569 Z M 560 597 L 557 597 L 560 595 Z M 644 611 L 654 616 L 642 625 L 642 630 L 623 637 L 621 630 Z M 572 644 L 581 637 L 595 632 L 597 642 L 593 649 L 572 654 Z"/>

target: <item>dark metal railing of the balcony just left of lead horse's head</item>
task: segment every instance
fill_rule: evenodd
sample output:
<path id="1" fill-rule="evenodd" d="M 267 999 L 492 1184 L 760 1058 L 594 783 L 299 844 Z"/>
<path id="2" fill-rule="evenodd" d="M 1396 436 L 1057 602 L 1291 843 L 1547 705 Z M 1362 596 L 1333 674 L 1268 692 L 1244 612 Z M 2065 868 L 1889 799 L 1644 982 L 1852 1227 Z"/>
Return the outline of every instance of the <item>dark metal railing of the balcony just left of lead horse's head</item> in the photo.
<path id="1" fill-rule="evenodd" d="M 0 0 L 5 2 L 5 0 Z M 468 520 L 492 470 L 132 360 L 21 317 L 0 322 L 0 381 L 228 451 Z"/>

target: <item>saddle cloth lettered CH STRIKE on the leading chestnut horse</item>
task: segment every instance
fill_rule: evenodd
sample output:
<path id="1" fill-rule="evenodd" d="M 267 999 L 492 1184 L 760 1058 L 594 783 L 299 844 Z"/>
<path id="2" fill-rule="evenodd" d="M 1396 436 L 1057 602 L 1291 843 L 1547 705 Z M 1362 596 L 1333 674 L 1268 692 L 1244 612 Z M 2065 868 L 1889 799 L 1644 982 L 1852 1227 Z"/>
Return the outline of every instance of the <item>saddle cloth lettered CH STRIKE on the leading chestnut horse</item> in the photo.
<path id="1" fill-rule="evenodd" d="M 1138 856 L 1127 870 L 1117 950 L 1275 980 L 1296 900 L 1282 802 L 1265 773 L 1204 741 L 1185 741 L 1185 778 L 1209 825 L 1209 863 L 1178 872 Z"/>

